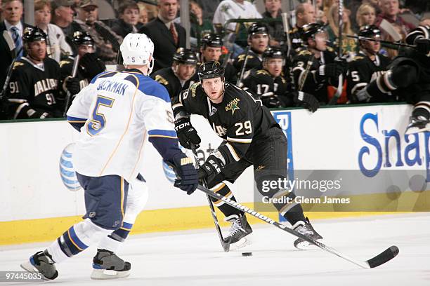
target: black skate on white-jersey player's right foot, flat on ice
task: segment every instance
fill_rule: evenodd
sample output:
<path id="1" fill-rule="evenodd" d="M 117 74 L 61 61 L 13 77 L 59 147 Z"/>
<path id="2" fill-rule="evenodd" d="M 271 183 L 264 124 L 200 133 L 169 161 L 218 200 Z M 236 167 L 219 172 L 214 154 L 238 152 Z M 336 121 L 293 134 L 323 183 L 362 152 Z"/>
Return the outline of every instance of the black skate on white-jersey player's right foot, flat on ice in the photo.
<path id="1" fill-rule="evenodd" d="M 131 264 L 109 250 L 97 250 L 93 258 L 91 279 L 115 279 L 130 275 Z"/>

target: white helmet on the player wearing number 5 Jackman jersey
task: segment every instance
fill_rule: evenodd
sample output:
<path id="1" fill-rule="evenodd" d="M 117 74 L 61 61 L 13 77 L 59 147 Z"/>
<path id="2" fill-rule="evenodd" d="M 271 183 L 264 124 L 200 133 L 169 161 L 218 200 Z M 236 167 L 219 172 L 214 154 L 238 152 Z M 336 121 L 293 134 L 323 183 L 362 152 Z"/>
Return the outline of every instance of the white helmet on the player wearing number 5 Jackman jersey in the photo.
<path id="1" fill-rule="evenodd" d="M 143 64 L 148 65 L 151 73 L 154 67 L 154 43 L 145 34 L 128 34 L 122 41 L 121 50 L 123 64 Z"/>

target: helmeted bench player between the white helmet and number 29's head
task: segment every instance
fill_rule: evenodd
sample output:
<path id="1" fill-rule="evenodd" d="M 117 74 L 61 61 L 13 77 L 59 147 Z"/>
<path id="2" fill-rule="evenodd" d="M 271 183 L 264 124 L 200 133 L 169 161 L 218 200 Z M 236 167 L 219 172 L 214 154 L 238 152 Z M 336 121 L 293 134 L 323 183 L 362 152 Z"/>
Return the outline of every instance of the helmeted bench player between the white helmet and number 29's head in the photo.
<path id="1" fill-rule="evenodd" d="M 151 78 L 161 83 L 169 92 L 170 98 L 178 97 L 181 90 L 193 84 L 193 75 L 197 64 L 197 55 L 188 48 L 178 48 L 174 53 L 174 62 L 171 67 L 159 69 Z"/>

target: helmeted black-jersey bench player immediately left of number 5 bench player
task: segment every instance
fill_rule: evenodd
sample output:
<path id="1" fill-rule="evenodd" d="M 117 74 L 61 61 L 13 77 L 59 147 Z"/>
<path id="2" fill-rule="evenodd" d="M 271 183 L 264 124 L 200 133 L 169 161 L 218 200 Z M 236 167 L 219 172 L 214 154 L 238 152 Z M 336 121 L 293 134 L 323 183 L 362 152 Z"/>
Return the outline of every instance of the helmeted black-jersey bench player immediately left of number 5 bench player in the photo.
<path id="1" fill-rule="evenodd" d="M 296 89 L 311 93 L 319 102 L 327 103 L 327 87 L 337 86 L 340 74 L 346 74 L 346 63 L 335 62 L 334 50 L 327 46 L 327 32 L 320 24 L 302 27 L 306 48 L 298 50 L 293 59 L 292 74 Z"/>

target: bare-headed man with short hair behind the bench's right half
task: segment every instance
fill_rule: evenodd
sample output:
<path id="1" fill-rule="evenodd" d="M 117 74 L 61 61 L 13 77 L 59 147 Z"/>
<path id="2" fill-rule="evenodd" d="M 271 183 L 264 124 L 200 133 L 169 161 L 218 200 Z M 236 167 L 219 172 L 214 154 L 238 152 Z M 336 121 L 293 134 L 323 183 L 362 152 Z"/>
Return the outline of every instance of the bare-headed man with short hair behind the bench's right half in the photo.
<path id="1" fill-rule="evenodd" d="M 315 8 L 309 3 L 299 4 L 296 7 L 296 27 L 289 31 L 289 39 L 292 41 L 292 48 L 296 50 L 303 46 L 301 41 L 301 27 L 315 23 Z"/>

